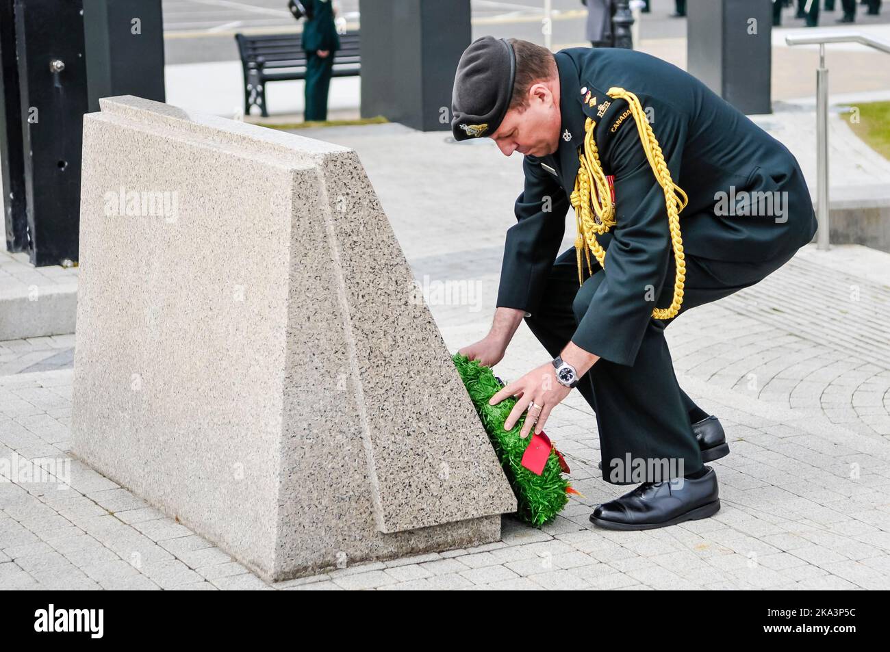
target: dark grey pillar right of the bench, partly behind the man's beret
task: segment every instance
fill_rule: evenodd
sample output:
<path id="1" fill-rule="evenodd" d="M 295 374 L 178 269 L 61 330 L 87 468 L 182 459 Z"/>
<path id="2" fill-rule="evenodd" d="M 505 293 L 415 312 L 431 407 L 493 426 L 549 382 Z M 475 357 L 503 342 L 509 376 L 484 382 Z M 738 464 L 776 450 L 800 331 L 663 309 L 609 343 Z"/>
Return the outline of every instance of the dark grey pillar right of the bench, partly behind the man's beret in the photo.
<path id="1" fill-rule="evenodd" d="M 448 130 L 470 0 L 360 0 L 360 12 L 361 116 Z"/>

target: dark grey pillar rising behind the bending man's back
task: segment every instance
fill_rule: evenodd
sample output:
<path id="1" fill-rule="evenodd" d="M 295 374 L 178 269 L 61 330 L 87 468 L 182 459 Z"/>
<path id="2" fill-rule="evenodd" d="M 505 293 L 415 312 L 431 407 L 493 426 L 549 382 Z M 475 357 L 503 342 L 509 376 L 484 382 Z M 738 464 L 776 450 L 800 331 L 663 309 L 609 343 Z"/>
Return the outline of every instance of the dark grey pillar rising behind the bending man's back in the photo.
<path id="1" fill-rule="evenodd" d="M 689 0 L 689 72 L 748 115 L 771 113 L 772 0 Z"/>

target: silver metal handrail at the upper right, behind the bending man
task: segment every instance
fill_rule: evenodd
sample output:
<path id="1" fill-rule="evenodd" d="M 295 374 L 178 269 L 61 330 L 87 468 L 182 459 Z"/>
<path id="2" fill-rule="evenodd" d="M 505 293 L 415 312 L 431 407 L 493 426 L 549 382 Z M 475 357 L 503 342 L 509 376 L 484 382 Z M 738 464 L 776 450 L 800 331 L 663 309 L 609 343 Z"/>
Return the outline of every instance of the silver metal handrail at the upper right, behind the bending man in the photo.
<path id="1" fill-rule="evenodd" d="M 789 45 L 819 45 L 819 68 L 816 70 L 816 218 L 819 230 L 816 246 L 829 248 L 829 70 L 825 68 L 825 45 L 858 43 L 890 54 L 890 43 L 870 38 L 859 32 L 819 32 L 785 36 Z"/>

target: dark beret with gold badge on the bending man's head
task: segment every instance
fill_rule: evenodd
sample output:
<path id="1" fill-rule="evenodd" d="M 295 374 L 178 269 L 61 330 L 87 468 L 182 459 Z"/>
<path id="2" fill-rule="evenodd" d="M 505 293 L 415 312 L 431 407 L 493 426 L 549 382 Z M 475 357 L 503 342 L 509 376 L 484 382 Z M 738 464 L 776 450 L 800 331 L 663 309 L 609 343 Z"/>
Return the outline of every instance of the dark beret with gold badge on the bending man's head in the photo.
<path id="1" fill-rule="evenodd" d="M 510 107 L 516 57 L 506 38 L 481 36 L 457 63 L 451 93 L 451 133 L 456 141 L 498 131 Z"/>

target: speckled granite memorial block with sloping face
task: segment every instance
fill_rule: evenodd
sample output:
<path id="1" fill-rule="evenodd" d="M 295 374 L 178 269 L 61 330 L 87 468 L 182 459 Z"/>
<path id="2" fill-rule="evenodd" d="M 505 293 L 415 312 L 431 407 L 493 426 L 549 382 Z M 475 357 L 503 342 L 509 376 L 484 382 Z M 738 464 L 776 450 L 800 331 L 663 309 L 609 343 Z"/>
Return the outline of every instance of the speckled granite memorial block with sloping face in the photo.
<path id="1" fill-rule="evenodd" d="M 269 580 L 496 541 L 515 497 L 352 149 L 84 117 L 74 454 Z"/>

